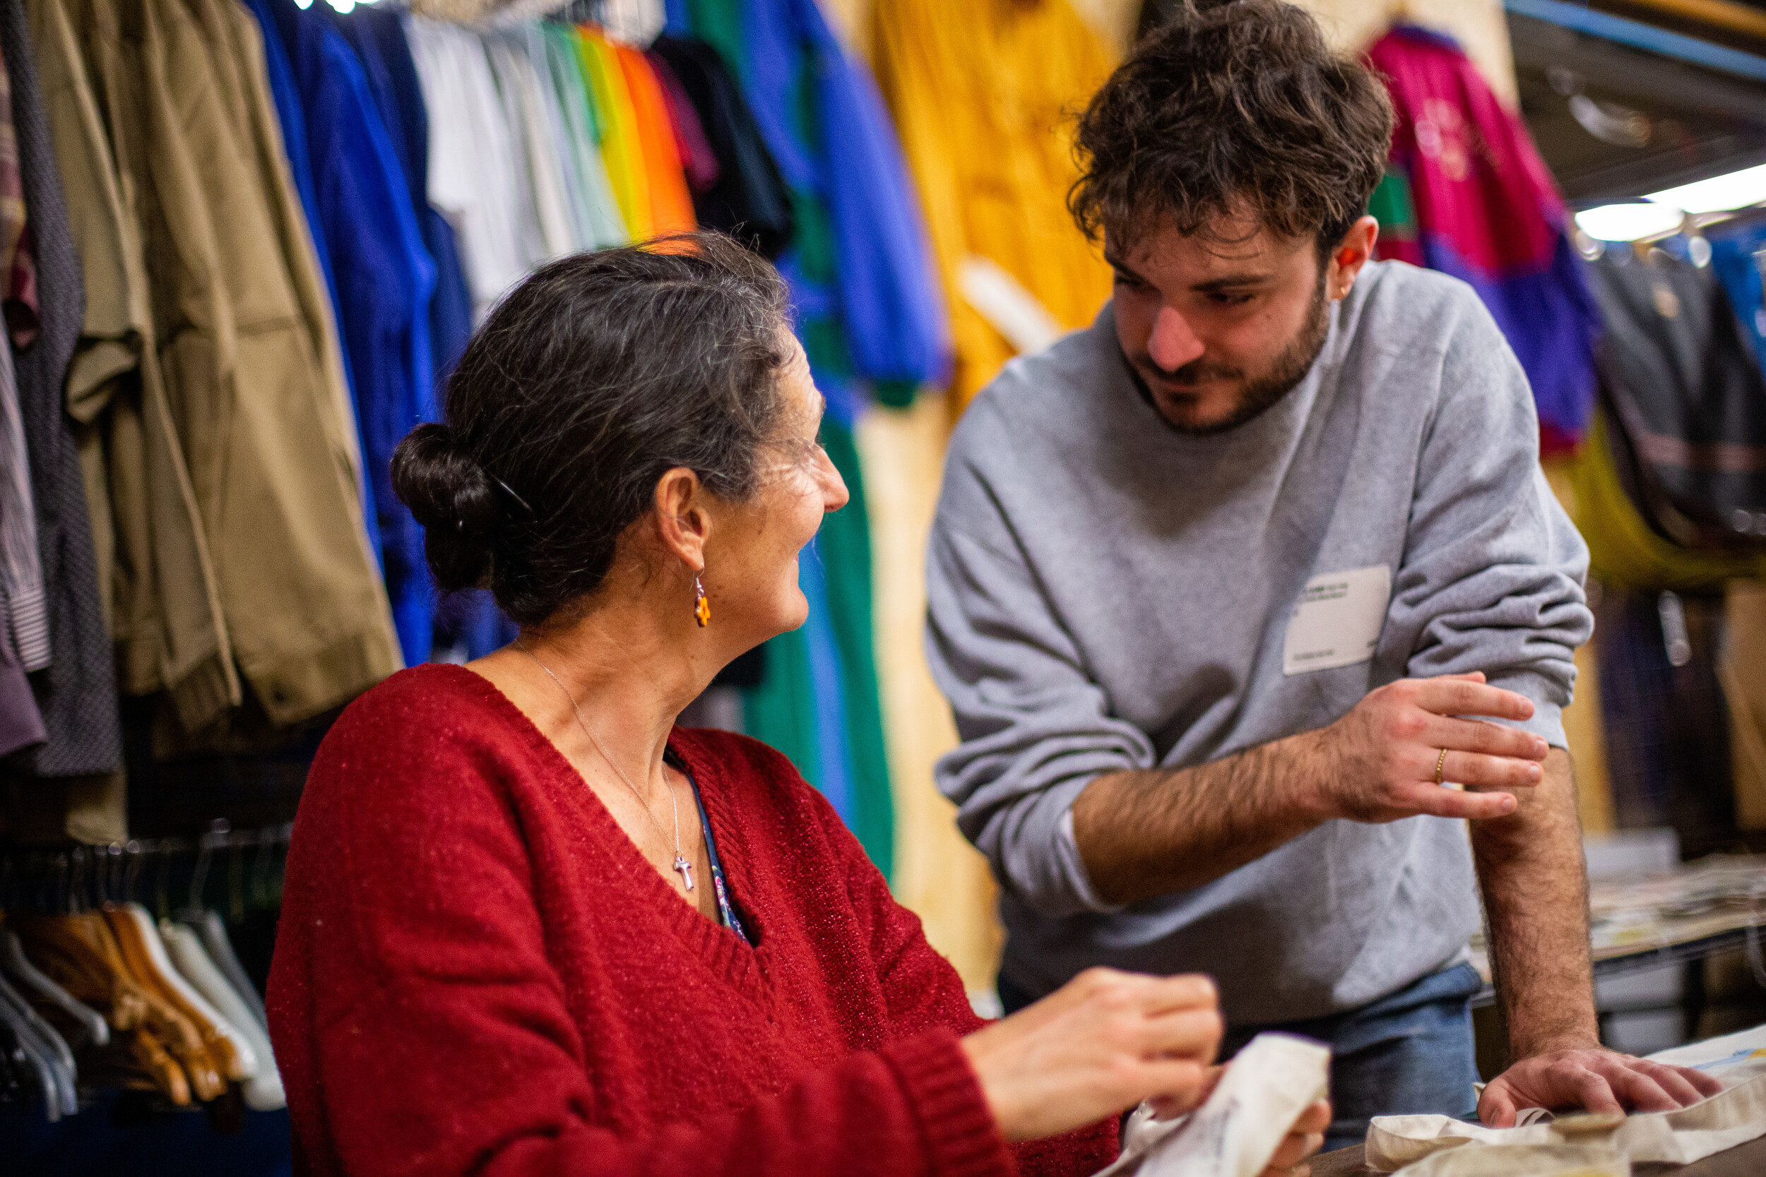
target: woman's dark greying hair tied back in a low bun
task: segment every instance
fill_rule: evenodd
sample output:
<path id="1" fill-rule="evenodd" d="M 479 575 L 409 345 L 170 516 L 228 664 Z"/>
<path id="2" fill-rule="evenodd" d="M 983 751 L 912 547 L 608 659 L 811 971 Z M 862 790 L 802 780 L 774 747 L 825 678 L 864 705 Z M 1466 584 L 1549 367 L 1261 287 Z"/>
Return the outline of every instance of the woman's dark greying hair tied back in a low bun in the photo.
<path id="1" fill-rule="evenodd" d="M 466 344 L 447 424 L 392 454 L 436 588 L 489 588 L 540 625 L 600 588 L 666 471 L 749 499 L 784 415 L 786 330 L 784 279 L 719 233 L 537 270 Z"/>

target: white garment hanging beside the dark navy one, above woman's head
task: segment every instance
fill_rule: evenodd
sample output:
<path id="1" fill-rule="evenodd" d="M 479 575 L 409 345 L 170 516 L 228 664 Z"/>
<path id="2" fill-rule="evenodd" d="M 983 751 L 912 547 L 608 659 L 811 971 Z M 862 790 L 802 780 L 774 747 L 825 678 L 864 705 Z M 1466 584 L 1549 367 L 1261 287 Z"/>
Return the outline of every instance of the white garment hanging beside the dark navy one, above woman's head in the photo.
<path id="1" fill-rule="evenodd" d="M 429 109 L 429 203 L 454 224 L 482 321 L 532 263 L 521 245 L 516 146 L 479 37 L 420 16 L 406 16 L 404 32 Z"/>

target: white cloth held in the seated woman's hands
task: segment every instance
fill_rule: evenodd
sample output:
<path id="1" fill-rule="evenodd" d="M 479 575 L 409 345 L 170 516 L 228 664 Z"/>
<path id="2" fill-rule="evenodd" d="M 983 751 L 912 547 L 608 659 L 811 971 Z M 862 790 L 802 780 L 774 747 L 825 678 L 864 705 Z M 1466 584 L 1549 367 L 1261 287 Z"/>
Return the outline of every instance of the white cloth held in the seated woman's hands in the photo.
<path id="1" fill-rule="evenodd" d="M 1330 1046 L 1257 1034 L 1199 1110 L 1153 1121 L 1139 1108 L 1123 1129 L 1121 1156 L 1097 1177 L 1257 1177 L 1328 1083 Z"/>

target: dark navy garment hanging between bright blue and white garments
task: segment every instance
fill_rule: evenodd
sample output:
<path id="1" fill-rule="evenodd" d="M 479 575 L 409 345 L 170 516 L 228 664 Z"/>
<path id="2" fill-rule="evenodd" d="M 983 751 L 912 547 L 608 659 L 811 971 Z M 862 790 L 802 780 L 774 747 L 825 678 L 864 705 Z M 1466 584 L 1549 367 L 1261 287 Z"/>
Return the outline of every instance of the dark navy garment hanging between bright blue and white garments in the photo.
<path id="1" fill-rule="evenodd" d="M 369 90 L 392 134 L 392 150 L 411 192 L 424 245 L 436 266 L 436 289 L 429 302 L 429 356 L 440 386 L 472 337 L 472 288 L 466 286 L 466 270 L 459 263 L 454 226 L 429 203 L 429 109 L 424 106 L 417 62 L 411 60 L 404 21 L 397 12 L 358 5 L 348 16 L 334 19 L 362 58 Z"/>

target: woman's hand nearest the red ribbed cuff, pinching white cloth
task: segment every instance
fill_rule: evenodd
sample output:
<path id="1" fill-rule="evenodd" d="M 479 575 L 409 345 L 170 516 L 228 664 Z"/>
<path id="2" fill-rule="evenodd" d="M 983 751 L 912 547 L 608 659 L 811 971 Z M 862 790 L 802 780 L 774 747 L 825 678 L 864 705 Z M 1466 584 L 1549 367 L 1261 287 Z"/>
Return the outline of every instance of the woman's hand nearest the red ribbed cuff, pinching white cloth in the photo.
<path id="1" fill-rule="evenodd" d="M 1088 969 L 1010 1018 L 962 1039 L 1007 1140 L 1083 1128 L 1158 1099 L 1171 1113 L 1201 1101 L 1220 1045 L 1220 1009 L 1204 976 L 1153 978 Z"/>

